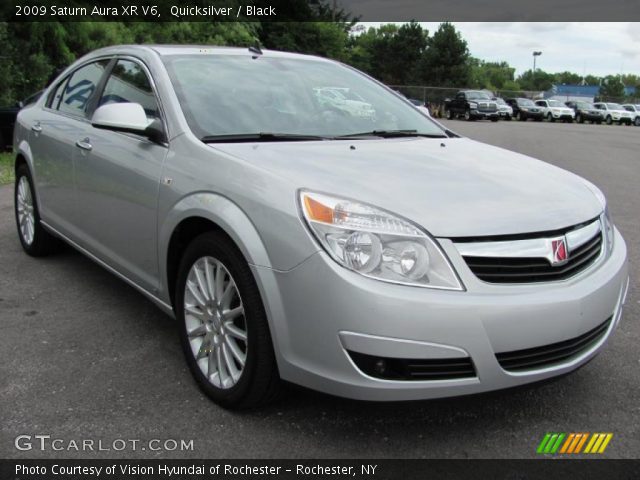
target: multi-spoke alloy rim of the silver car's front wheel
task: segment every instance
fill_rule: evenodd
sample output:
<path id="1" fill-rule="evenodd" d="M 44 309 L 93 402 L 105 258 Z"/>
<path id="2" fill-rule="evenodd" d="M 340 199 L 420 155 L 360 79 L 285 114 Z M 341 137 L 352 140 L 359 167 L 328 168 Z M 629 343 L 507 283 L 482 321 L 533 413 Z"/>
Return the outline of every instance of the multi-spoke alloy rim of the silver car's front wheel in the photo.
<path id="1" fill-rule="evenodd" d="M 184 321 L 196 363 L 215 387 L 231 388 L 242 376 L 248 350 L 244 315 L 227 268 L 213 257 L 198 259 L 184 289 Z"/>

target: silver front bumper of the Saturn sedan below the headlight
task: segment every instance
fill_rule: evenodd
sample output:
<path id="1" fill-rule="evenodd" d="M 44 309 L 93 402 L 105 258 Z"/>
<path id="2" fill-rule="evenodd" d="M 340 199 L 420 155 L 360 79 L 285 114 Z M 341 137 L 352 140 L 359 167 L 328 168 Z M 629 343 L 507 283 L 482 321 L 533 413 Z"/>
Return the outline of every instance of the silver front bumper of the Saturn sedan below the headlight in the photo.
<path id="1" fill-rule="evenodd" d="M 563 282 L 492 285 L 478 280 L 442 240 L 467 291 L 393 285 L 362 277 L 318 252 L 287 272 L 253 267 L 271 323 L 283 379 L 363 400 L 466 395 L 570 372 L 594 357 L 616 328 L 628 287 L 627 251 L 616 231 L 609 258 Z M 578 337 L 612 318 L 575 356 L 509 372 L 496 353 Z M 387 380 L 360 371 L 347 350 L 393 358 L 469 356 L 473 378 Z"/>

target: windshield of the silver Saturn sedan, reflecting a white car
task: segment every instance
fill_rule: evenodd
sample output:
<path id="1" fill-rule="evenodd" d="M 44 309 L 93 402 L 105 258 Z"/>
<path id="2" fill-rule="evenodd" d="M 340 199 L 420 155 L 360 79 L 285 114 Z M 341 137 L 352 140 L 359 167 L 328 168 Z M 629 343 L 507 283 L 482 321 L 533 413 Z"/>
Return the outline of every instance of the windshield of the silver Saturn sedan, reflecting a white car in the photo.
<path id="1" fill-rule="evenodd" d="M 446 136 L 397 95 L 338 63 L 244 54 L 168 55 L 163 61 L 199 138 Z"/>

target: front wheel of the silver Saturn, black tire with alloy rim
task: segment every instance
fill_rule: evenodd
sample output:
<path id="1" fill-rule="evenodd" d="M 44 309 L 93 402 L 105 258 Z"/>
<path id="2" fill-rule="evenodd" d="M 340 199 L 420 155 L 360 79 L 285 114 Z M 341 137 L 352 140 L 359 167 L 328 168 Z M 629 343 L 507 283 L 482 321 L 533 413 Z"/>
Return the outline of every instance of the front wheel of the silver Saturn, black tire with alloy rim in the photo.
<path id="1" fill-rule="evenodd" d="M 216 287 L 219 275 L 221 284 Z M 229 288 L 229 295 L 221 294 Z M 224 408 L 247 409 L 279 395 L 281 381 L 260 292 L 247 261 L 224 233 L 203 233 L 189 244 L 174 298 L 187 364 L 209 398 Z M 199 355 L 204 356 L 198 360 Z M 210 375 L 211 368 L 215 370 Z"/>

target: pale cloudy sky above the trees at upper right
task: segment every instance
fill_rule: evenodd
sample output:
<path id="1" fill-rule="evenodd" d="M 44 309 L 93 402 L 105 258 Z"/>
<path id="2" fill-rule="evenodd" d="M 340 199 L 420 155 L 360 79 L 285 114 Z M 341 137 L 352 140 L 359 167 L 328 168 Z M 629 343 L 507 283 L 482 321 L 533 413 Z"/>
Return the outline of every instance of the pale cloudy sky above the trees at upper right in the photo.
<path id="1" fill-rule="evenodd" d="M 474 57 L 507 61 L 516 75 L 536 68 L 597 76 L 640 75 L 640 23 L 595 22 L 452 22 Z M 379 26 L 380 22 L 364 23 Z M 439 22 L 420 22 L 432 35 Z"/>

